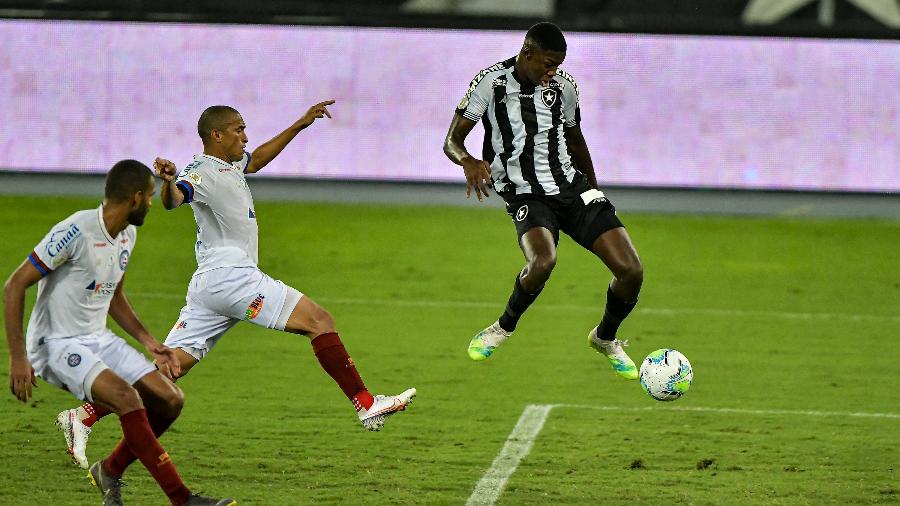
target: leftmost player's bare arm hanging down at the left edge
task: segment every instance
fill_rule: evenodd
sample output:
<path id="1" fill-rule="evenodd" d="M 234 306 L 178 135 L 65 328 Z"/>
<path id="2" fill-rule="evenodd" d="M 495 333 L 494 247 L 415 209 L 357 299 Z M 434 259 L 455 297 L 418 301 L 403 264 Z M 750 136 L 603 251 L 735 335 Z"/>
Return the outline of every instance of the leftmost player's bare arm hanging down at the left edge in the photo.
<path id="1" fill-rule="evenodd" d="M 37 387 L 34 368 L 25 355 L 23 343 L 25 290 L 40 279 L 40 271 L 25 260 L 3 286 L 3 317 L 6 322 L 6 342 L 9 345 L 9 391 L 22 402 L 31 397 L 31 387 Z"/>

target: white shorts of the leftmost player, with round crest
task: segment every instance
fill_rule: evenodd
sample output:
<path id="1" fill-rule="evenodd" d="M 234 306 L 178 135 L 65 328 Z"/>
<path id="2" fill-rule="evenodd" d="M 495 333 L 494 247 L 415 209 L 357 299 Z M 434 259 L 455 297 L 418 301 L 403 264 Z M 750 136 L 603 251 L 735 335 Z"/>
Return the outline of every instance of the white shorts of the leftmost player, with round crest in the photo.
<path id="1" fill-rule="evenodd" d="M 104 369 L 111 369 L 129 385 L 156 370 L 147 358 L 124 339 L 104 329 L 61 339 L 47 339 L 29 350 L 34 372 L 51 385 L 93 402 L 91 386 Z"/>

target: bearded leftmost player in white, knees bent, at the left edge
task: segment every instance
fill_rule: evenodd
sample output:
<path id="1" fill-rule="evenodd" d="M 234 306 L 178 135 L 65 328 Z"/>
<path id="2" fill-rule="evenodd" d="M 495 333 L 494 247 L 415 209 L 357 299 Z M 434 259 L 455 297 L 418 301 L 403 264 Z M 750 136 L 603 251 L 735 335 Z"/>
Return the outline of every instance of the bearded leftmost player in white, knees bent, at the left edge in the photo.
<path id="1" fill-rule="evenodd" d="M 89 478 L 103 504 L 122 504 L 121 477 L 136 459 L 150 471 L 172 504 L 235 504 L 194 495 L 159 444 L 181 413 L 184 396 L 141 353 L 106 327 L 106 315 L 140 342 L 157 363 L 177 374 L 175 351 L 156 341 L 125 296 L 125 270 L 156 185 L 135 160 L 115 164 L 106 176 L 103 203 L 56 224 L 9 277 L 3 291 L 9 343 L 9 386 L 25 402 L 35 375 L 100 404 L 119 416 L 124 438 Z M 22 345 L 25 290 L 38 283 Z M 70 423 L 63 420 L 63 423 Z"/>

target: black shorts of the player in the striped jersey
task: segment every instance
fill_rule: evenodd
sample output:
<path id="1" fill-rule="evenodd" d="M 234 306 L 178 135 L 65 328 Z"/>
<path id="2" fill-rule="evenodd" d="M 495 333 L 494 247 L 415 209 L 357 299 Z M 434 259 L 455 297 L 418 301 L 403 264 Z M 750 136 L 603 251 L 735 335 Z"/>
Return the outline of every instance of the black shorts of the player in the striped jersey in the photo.
<path id="1" fill-rule="evenodd" d="M 593 251 L 594 242 L 601 234 L 624 227 L 612 202 L 587 183 L 579 191 L 565 196 L 514 195 L 506 202 L 506 214 L 516 226 L 520 245 L 525 232 L 544 227 L 553 234 L 556 244 L 559 244 L 559 231 L 562 230 L 583 248 Z"/>

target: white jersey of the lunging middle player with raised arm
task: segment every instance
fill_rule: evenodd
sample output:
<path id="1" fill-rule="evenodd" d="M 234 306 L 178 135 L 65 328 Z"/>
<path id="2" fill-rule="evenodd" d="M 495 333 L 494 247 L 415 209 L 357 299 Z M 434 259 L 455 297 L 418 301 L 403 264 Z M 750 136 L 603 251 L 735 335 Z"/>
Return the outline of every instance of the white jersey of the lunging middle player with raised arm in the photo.
<path id="1" fill-rule="evenodd" d="M 201 153 L 178 175 L 176 185 L 197 221 L 197 273 L 259 262 L 256 212 L 244 178 L 249 164 L 246 152 L 234 163 Z"/>

